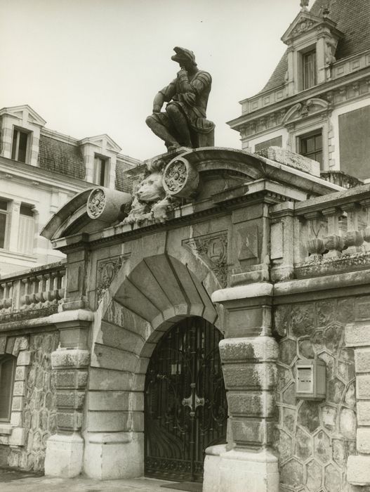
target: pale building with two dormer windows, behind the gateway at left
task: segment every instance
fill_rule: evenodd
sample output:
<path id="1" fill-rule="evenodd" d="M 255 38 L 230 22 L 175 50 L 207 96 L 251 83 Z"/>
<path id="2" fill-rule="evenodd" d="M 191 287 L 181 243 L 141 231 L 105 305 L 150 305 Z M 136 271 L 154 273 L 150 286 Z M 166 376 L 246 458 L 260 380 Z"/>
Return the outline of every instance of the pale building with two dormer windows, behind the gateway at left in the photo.
<path id="1" fill-rule="evenodd" d="M 107 135 L 76 138 L 46 129 L 27 105 L 0 110 L 0 273 L 58 261 L 39 235 L 51 216 L 93 183 L 124 190 L 140 161 Z"/>

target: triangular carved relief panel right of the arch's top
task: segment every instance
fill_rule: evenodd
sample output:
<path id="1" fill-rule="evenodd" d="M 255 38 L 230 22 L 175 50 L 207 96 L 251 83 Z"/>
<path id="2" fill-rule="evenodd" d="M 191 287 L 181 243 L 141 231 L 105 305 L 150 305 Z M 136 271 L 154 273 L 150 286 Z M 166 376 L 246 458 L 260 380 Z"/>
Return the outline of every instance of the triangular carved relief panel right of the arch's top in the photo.
<path id="1" fill-rule="evenodd" d="M 221 287 L 227 285 L 227 231 L 185 239 L 183 246 L 204 261 Z"/>

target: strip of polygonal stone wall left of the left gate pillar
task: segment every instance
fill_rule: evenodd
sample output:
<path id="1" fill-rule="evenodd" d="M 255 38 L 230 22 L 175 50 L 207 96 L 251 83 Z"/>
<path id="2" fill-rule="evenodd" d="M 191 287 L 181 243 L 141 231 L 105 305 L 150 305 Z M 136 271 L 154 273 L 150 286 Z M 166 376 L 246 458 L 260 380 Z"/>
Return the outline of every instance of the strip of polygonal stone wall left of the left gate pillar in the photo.
<path id="1" fill-rule="evenodd" d="M 25 446 L 13 448 L 8 458 L 12 467 L 44 471 L 46 441 L 56 430 L 56 391 L 51 370 L 51 352 L 57 349 L 59 332 L 29 337 L 31 363 L 26 379 L 22 427 Z"/>

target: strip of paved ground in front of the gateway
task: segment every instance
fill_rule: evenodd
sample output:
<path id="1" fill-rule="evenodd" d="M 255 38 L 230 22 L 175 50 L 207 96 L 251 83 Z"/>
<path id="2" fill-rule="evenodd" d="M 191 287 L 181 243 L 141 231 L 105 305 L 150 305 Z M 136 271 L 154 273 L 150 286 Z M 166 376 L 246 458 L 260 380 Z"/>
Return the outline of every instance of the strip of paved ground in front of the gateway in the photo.
<path id="1" fill-rule="evenodd" d="M 168 481 L 140 478 L 94 480 L 84 477 L 59 479 L 17 470 L 0 469 L 0 492 L 177 492 L 162 488 Z"/>

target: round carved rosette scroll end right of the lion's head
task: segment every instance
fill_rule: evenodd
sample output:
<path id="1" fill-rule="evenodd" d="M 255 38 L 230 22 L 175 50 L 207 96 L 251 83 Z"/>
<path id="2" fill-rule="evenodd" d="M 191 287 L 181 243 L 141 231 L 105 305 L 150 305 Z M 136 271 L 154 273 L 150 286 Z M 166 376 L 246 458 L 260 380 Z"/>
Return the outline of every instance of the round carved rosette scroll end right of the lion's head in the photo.
<path id="1" fill-rule="evenodd" d="M 188 198 L 198 188 L 199 173 L 184 157 L 176 157 L 166 165 L 163 186 L 172 197 Z"/>

